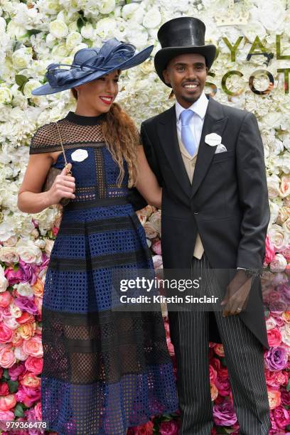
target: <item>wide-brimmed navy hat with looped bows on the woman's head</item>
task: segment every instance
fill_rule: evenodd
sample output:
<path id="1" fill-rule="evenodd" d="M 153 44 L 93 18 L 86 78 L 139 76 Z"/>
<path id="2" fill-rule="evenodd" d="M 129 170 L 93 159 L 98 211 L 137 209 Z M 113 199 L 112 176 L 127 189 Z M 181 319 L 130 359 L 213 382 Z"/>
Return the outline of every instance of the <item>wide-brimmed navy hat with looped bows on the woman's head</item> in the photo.
<path id="1" fill-rule="evenodd" d="M 101 48 L 82 48 L 75 53 L 73 65 L 60 63 L 48 65 L 45 74 L 48 83 L 37 87 L 32 94 L 55 94 L 55 92 L 68 90 L 75 86 L 85 85 L 114 70 L 128 70 L 149 58 L 153 48 L 154 45 L 150 45 L 135 54 L 134 45 L 118 41 L 117 38 L 105 41 Z M 60 66 L 70 68 L 65 69 Z"/>

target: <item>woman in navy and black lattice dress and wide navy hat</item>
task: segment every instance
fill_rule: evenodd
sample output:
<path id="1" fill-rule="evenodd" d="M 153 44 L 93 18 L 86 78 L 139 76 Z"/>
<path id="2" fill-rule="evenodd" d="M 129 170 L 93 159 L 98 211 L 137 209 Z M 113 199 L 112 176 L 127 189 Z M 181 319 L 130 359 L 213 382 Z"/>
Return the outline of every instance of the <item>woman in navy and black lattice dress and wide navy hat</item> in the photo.
<path id="1" fill-rule="evenodd" d="M 51 252 L 43 295 L 43 421 L 60 434 L 125 434 L 178 405 L 160 313 L 112 308 L 112 276 L 153 270 L 143 227 L 126 196 L 136 186 L 152 205 L 161 189 L 129 116 L 114 103 L 119 71 L 152 47 L 115 38 L 75 54 L 68 70 L 49 65 L 46 95 L 73 90 L 75 113 L 36 131 L 18 207 L 38 213 L 70 198 Z M 60 134 L 60 136 L 59 136 Z M 68 169 L 41 192 L 50 166 Z"/>

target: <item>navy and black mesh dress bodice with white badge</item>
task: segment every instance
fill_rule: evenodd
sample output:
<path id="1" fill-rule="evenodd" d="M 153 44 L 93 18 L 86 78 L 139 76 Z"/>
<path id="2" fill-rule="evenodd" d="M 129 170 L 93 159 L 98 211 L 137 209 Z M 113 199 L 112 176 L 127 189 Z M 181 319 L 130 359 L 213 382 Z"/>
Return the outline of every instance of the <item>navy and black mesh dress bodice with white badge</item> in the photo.
<path id="1" fill-rule="evenodd" d="M 58 121 L 65 156 L 68 163 L 72 163 L 75 177 L 75 199 L 71 202 L 124 197 L 129 191 L 125 161 L 122 186 L 117 186 L 119 166 L 104 141 L 102 117 L 103 115 L 84 117 L 69 112 L 67 117 Z M 61 150 L 55 123 L 45 124 L 36 131 L 31 141 L 30 154 Z M 63 153 L 60 153 L 53 166 L 62 169 L 64 165 Z"/>

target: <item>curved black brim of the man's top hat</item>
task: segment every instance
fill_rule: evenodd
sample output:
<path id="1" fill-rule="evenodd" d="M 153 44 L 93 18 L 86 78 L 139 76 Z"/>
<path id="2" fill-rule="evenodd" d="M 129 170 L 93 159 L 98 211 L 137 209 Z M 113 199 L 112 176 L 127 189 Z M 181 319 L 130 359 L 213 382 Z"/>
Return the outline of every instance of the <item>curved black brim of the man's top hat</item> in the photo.
<path id="1" fill-rule="evenodd" d="M 161 48 L 161 50 L 157 51 L 154 58 L 154 65 L 156 73 L 159 75 L 159 78 L 162 82 L 171 87 L 170 84 L 166 83 L 163 77 L 163 71 L 166 70 L 166 66 L 170 62 L 171 59 L 176 58 L 178 55 L 187 54 L 187 53 L 197 53 L 203 55 L 205 57 L 205 65 L 210 69 L 211 65 L 213 65 L 213 61 L 215 60 L 216 54 L 215 45 L 198 45 L 190 47 L 166 47 Z"/>

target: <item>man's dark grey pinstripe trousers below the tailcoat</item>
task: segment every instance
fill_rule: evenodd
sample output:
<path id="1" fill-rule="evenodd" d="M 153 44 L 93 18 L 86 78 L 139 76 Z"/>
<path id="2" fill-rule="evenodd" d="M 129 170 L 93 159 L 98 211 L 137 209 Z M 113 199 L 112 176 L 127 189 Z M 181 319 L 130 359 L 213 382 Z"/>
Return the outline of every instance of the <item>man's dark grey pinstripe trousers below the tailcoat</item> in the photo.
<path id="1" fill-rule="evenodd" d="M 210 269 L 208 259 L 192 261 L 192 276 Z M 208 272 L 207 272 L 208 274 Z M 207 285 L 214 286 L 210 279 Z M 215 291 L 211 289 L 210 294 Z M 177 387 L 182 435 L 209 435 L 213 427 L 208 367 L 209 316 L 206 311 L 169 313 L 171 340 L 177 361 Z M 271 427 L 264 377 L 263 348 L 239 316 L 215 312 L 225 350 L 240 435 L 266 435 Z"/>

